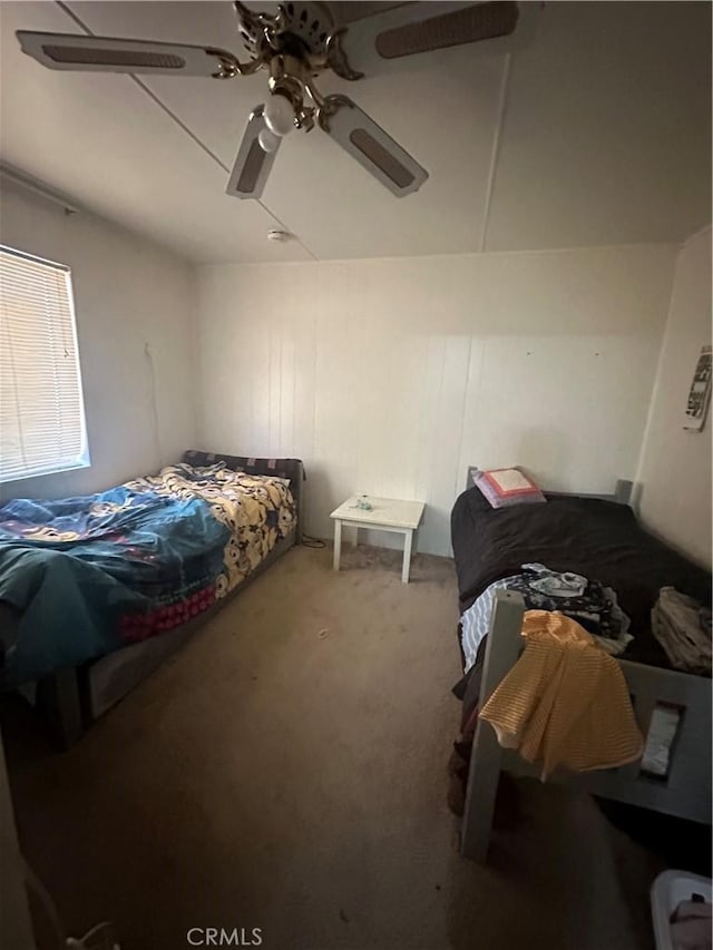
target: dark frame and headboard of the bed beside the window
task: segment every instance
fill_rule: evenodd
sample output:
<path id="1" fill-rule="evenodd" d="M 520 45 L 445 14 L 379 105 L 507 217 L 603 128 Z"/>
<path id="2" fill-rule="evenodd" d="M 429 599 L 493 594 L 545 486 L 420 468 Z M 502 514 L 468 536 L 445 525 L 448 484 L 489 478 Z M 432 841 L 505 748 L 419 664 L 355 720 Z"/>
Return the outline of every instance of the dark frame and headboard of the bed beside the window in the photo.
<path id="1" fill-rule="evenodd" d="M 157 669 L 223 607 L 267 570 L 294 545 L 302 542 L 304 519 L 304 466 L 301 459 L 256 459 L 191 450 L 182 461 L 208 466 L 224 461 L 247 474 L 289 478 L 297 510 L 295 529 L 281 538 L 267 557 L 227 597 L 173 630 L 131 644 L 79 667 L 66 667 L 37 684 L 37 706 L 41 709 L 56 743 L 64 750 L 74 745 L 87 727 Z"/>

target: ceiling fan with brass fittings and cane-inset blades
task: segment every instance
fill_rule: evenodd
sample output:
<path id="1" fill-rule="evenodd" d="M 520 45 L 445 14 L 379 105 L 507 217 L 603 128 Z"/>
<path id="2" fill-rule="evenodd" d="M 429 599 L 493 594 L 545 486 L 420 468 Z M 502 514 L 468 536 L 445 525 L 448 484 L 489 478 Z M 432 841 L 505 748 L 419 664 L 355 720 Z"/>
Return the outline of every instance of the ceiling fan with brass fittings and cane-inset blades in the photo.
<path id="1" fill-rule="evenodd" d="M 247 121 L 226 192 L 260 198 L 282 139 L 315 124 L 394 195 L 418 190 L 428 172 L 355 102 L 322 95 L 315 78 L 332 70 L 343 79 L 398 66 L 403 57 L 463 43 L 509 50 L 534 31 L 539 2 L 301 2 L 285 0 L 276 12 L 234 3 L 247 53 L 214 47 L 18 30 L 23 52 L 50 69 L 163 74 L 233 79 L 268 72 L 270 96 Z M 275 6 L 275 4 L 271 4 Z"/>

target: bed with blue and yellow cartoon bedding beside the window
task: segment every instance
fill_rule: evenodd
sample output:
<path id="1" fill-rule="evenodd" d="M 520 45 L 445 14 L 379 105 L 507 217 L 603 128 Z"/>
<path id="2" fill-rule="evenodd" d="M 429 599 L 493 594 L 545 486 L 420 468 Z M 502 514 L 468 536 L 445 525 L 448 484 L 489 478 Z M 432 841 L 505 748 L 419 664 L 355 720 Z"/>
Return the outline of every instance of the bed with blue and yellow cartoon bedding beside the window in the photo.
<path id="1" fill-rule="evenodd" d="M 304 468 L 189 450 L 156 476 L 2 509 L 4 688 L 68 747 L 302 539 Z"/>

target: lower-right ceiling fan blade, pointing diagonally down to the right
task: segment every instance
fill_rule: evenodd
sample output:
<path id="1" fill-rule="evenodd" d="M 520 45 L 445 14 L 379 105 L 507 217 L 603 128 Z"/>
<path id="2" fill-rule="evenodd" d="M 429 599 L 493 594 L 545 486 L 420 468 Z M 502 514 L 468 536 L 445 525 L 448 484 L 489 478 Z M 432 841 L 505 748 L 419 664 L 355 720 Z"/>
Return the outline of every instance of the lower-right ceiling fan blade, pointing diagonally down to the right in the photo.
<path id="1" fill-rule="evenodd" d="M 324 131 L 397 197 L 418 192 L 428 178 L 426 168 L 351 99 L 334 98 L 339 108 L 320 123 Z"/>

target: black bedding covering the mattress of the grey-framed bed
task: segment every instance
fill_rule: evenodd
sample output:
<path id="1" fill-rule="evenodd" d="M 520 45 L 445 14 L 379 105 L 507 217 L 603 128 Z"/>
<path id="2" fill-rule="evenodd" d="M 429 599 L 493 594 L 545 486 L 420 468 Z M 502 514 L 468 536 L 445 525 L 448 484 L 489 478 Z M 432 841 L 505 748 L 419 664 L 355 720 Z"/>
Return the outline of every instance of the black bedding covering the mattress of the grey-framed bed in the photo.
<path id="1" fill-rule="evenodd" d="M 622 659 L 668 667 L 651 633 L 664 586 L 711 600 L 711 574 L 654 538 L 631 508 L 597 498 L 548 496 L 546 505 L 494 509 L 477 488 L 456 501 L 451 540 L 461 613 L 495 580 L 537 562 L 612 587 L 634 639 Z"/>

